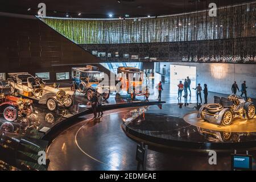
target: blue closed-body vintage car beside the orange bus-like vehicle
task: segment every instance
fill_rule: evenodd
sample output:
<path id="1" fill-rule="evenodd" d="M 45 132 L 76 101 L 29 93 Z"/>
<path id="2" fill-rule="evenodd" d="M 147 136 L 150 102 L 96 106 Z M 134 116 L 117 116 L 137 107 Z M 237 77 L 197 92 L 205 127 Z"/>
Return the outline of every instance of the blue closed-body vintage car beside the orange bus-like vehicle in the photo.
<path id="1" fill-rule="evenodd" d="M 100 93 L 105 100 L 109 98 L 109 89 L 100 86 L 101 72 L 97 67 L 87 65 L 83 68 L 72 68 L 72 80 L 74 88 L 78 89 L 80 93 L 85 94 L 85 97 L 90 100 L 92 93 Z"/>

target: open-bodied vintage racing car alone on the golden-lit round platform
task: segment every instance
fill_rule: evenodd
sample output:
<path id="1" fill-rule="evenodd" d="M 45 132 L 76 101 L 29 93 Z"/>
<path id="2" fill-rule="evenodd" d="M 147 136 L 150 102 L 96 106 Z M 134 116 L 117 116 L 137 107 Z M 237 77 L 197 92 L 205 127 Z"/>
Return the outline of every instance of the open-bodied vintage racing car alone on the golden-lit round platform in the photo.
<path id="1" fill-rule="evenodd" d="M 255 106 L 249 98 L 243 98 L 234 94 L 228 98 L 214 96 L 214 104 L 205 104 L 200 107 L 197 118 L 202 118 L 210 123 L 229 126 L 234 118 L 243 117 L 253 119 L 255 116 Z"/>

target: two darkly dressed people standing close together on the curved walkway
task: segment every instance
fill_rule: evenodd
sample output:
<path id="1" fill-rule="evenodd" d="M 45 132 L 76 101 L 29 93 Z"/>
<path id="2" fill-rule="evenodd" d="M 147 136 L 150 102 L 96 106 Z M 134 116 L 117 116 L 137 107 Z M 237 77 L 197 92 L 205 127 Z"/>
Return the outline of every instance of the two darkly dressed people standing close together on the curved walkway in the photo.
<path id="1" fill-rule="evenodd" d="M 97 96 L 95 93 L 92 93 L 92 98 L 90 99 L 90 103 L 92 104 L 94 119 L 97 118 L 97 112 L 98 112 L 98 118 L 103 115 L 103 111 L 102 111 L 103 101 L 104 101 L 104 98 L 101 96 L 100 93 L 98 93 Z"/>

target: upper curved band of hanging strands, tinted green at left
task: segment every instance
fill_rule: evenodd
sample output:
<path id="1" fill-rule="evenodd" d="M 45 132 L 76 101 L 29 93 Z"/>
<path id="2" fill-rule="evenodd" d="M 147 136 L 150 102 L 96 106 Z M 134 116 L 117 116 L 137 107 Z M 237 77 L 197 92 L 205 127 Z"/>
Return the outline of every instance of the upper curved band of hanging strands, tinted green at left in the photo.
<path id="1" fill-rule="evenodd" d="M 42 20 L 77 44 L 155 43 L 247 38 L 256 35 L 256 2 L 164 18 Z"/>

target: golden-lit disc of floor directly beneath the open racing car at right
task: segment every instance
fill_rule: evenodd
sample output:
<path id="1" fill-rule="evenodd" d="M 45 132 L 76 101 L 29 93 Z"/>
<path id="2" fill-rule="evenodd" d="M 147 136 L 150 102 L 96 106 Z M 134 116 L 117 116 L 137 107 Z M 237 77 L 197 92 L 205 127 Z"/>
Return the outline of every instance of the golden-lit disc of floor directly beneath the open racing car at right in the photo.
<path id="1" fill-rule="evenodd" d="M 242 119 L 236 118 L 233 120 L 231 125 L 223 126 L 216 125 L 214 123 L 209 123 L 204 121 L 202 118 L 197 118 L 197 111 L 185 114 L 183 117 L 184 121 L 190 125 L 200 127 L 203 129 L 214 130 L 214 131 L 225 131 L 225 132 L 235 132 L 235 133 L 254 133 L 256 132 L 256 117 L 254 119 Z"/>

